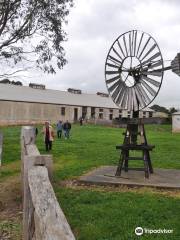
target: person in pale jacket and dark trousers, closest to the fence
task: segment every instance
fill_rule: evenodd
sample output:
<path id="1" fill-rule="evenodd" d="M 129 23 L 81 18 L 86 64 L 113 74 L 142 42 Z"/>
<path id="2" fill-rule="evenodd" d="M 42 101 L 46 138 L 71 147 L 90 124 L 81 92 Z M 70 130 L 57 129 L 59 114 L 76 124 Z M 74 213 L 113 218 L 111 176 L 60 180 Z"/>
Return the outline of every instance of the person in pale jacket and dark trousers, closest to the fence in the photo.
<path id="1" fill-rule="evenodd" d="M 54 140 L 54 130 L 53 127 L 50 125 L 49 121 L 45 122 L 42 132 L 44 134 L 44 143 L 46 151 L 49 151 L 52 149 L 52 142 Z"/>

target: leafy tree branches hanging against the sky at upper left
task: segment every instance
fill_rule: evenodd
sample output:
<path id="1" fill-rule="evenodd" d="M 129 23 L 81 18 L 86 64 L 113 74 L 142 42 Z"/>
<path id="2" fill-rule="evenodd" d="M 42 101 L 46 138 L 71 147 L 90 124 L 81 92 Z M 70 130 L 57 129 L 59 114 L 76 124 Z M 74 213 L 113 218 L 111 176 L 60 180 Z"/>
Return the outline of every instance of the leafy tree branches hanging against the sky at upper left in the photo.
<path id="1" fill-rule="evenodd" d="M 55 73 L 67 63 L 63 30 L 73 0 L 0 0 L 0 62 Z M 13 73 L 14 73 L 13 72 Z M 2 74 L 7 77 L 11 72 Z"/>

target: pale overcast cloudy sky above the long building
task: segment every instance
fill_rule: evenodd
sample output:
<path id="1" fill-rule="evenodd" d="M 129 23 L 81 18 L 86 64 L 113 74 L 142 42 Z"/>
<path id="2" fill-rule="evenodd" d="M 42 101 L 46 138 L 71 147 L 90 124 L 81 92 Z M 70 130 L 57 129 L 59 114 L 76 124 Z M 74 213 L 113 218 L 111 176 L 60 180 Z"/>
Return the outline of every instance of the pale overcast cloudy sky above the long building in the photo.
<path id="1" fill-rule="evenodd" d="M 28 82 L 47 88 L 107 92 L 104 65 L 114 40 L 129 30 L 149 33 L 158 43 L 165 64 L 180 52 L 180 1 L 178 0 L 74 0 L 64 43 L 68 64 L 56 75 L 34 74 Z M 180 108 L 180 77 L 166 71 L 153 104 Z"/>

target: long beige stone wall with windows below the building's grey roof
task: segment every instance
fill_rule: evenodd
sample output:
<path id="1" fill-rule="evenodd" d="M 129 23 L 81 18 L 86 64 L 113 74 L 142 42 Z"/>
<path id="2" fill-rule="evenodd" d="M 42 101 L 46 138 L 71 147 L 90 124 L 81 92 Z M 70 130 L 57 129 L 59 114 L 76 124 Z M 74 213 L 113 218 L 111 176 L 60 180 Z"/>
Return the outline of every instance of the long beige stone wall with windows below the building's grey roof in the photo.
<path id="1" fill-rule="evenodd" d="M 63 111 L 64 109 L 65 111 Z M 92 111 L 95 112 L 92 118 Z M 153 117 L 156 113 L 153 112 Z M 56 123 L 58 120 L 63 122 L 78 121 L 82 116 L 82 106 L 68 106 L 45 103 L 29 103 L 29 102 L 13 102 L 0 101 L 0 125 L 27 125 L 27 124 L 42 124 L 49 120 L 51 123 Z M 103 120 L 108 124 L 111 119 L 115 118 L 130 118 L 132 112 L 127 110 L 109 109 L 87 106 L 86 117 L 87 121 Z M 148 118 L 149 112 L 140 112 L 140 117 Z"/>

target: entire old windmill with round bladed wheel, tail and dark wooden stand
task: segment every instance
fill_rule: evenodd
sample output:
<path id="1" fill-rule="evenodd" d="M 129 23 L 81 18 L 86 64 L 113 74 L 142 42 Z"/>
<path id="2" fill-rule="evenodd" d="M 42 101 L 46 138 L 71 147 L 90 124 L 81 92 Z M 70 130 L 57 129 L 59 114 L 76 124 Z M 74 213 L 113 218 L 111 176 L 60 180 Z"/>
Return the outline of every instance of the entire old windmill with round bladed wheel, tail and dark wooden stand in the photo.
<path id="1" fill-rule="evenodd" d="M 124 142 L 120 149 L 120 161 L 116 176 L 126 172 L 129 160 L 142 160 L 145 177 L 153 173 L 150 151 L 154 148 L 147 142 L 143 119 L 139 111 L 147 107 L 158 95 L 164 72 L 172 70 L 180 76 L 180 53 L 165 67 L 162 53 L 155 39 L 148 33 L 132 30 L 120 35 L 109 49 L 105 62 L 105 82 L 114 103 L 119 109 L 133 112 L 127 120 Z M 138 142 L 140 138 L 140 143 Z M 141 157 L 131 157 L 133 150 L 142 151 Z"/>

